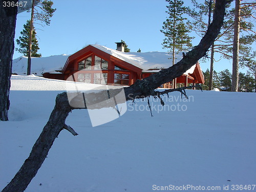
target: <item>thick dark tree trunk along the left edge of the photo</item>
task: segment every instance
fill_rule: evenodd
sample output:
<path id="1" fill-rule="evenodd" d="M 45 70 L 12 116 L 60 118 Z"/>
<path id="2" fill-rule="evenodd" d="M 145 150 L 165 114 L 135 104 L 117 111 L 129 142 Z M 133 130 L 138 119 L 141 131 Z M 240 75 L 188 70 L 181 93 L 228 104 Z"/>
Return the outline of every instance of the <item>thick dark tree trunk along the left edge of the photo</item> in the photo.
<path id="1" fill-rule="evenodd" d="M 17 7 L 4 7 L 4 1 L 0 2 L 0 120 L 8 121 Z"/>

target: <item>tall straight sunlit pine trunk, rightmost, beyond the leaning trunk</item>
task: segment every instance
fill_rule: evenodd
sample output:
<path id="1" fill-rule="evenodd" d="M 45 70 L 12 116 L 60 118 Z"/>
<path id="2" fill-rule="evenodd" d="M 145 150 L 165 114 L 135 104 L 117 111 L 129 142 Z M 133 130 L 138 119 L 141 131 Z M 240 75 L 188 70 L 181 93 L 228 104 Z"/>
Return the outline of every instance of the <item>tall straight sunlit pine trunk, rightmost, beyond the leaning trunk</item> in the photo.
<path id="1" fill-rule="evenodd" d="M 231 91 L 238 92 L 239 79 L 239 32 L 240 32 L 240 3 L 236 1 L 236 9 L 234 16 L 234 39 L 233 39 L 233 67 L 232 67 L 232 87 Z"/>

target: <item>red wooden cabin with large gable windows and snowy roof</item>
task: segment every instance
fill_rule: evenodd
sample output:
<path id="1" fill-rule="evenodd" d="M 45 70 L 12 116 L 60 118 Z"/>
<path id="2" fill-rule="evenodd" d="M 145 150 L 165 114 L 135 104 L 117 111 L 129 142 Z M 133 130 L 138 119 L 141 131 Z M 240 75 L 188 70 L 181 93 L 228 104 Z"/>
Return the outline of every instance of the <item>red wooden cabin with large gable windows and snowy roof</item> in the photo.
<path id="1" fill-rule="evenodd" d="M 75 81 L 97 84 L 122 84 L 130 86 L 137 79 L 145 78 L 171 66 L 167 52 L 124 53 L 124 44 L 117 43 L 117 50 L 99 45 L 89 45 L 70 55 L 61 73 L 44 73 L 43 76 L 66 80 L 76 74 Z M 119 51 L 118 51 L 119 50 Z M 182 56 L 177 55 L 177 61 Z M 177 83 L 204 83 L 199 63 L 177 78 Z M 163 88 L 170 88 L 165 83 Z"/>

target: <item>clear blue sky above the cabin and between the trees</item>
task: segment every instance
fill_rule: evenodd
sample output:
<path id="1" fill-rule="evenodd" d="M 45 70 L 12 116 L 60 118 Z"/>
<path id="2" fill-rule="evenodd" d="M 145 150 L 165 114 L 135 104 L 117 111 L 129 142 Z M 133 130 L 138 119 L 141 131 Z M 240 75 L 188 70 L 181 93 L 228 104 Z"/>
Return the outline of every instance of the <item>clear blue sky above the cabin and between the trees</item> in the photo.
<path id="1" fill-rule="evenodd" d="M 200 0 L 201 2 L 204 2 Z M 199 2 L 200 2 L 199 1 Z M 73 54 L 88 44 L 98 44 L 116 49 L 115 42 L 126 42 L 131 52 L 167 51 L 162 49 L 164 35 L 160 32 L 167 13 L 165 0 L 74 0 L 53 1 L 56 8 L 50 26 L 37 29 L 37 40 L 42 57 Z M 184 1 L 191 6 L 190 1 Z M 30 13 L 17 15 L 15 39 L 20 36 Z M 197 45 L 199 37 L 193 40 Z M 254 44 L 255 45 L 255 44 Z M 15 41 L 15 47 L 16 41 Z M 22 56 L 14 52 L 13 58 Z M 201 62 L 205 71 L 209 61 Z M 232 61 L 222 59 L 215 63 L 215 70 L 229 69 Z"/>

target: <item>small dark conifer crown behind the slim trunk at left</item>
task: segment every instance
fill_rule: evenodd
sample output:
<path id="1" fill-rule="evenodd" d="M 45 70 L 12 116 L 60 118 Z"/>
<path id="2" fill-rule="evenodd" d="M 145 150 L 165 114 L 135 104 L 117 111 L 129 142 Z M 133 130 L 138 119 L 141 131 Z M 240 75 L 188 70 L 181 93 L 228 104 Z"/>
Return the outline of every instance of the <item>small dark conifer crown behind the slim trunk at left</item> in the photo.
<path id="1" fill-rule="evenodd" d="M 24 29 L 20 32 L 22 36 L 16 39 L 19 48 L 15 48 L 16 51 L 19 53 L 23 53 L 24 56 L 28 56 L 28 45 L 29 45 L 29 31 L 30 31 L 30 20 L 27 20 L 27 23 L 24 26 Z M 38 54 L 37 51 L 40 48 L 38 47 L 38 41 L 36 39 L 36 31 L 33 27 L 33 34 L 32 34 L 32 50 L 31 50 L 31 57 L 41 57 L 41 54 Z"/>

